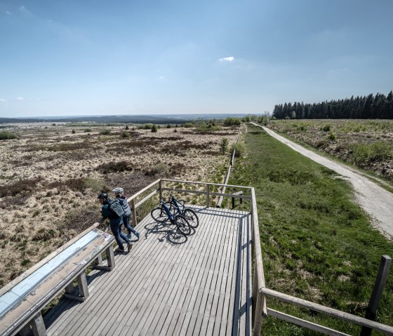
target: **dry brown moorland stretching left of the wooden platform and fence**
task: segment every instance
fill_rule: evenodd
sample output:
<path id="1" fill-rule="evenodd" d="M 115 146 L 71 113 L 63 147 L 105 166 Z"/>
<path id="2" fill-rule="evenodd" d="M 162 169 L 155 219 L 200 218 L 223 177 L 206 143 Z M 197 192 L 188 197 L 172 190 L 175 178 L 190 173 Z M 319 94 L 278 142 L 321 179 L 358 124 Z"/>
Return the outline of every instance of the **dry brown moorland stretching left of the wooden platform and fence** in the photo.
<path id="1" fill-rule="evenodd" d="M 0 286 L 93 224 L 100 191 L 121 186 L 131 196 L 159 177 L 217 179 L 228 161 L 220 141 L 238 132 L 17 126 L 17 138 L 0 141 Z"/>

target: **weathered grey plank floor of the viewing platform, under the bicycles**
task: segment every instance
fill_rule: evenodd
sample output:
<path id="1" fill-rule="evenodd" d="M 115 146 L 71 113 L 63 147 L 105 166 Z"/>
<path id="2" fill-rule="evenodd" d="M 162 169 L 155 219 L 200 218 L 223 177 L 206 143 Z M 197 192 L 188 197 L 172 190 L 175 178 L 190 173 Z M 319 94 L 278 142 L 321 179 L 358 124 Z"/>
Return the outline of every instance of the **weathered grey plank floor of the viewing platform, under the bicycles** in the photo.
<path id="1" fill-rule="evenodd" d="M 116 269 L 88 275 L 89 300 L 62 300 L 48 335 L 250 335 L 250 213 L 194 208 L 199 227 L 175 244 L 147 215 Z"/>

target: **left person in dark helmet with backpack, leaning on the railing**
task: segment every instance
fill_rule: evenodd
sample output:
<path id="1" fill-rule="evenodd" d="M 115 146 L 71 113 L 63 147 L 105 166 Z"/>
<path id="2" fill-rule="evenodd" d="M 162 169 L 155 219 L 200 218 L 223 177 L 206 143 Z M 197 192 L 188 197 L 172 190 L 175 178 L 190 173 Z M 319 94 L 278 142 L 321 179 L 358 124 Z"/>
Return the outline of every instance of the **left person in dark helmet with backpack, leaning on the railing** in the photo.
<path id="1" fill-rule="evenodd" d="M 124 252 L 123 241 L 121 241 L 121 238 L 123 238 L 124 241 L 126 241 L 127 250 L 128 250 L 128 252 L 130 252 L 133 245 L 132 245 L 130 239 L 126 236 L 126 234 L 124 234 L 124 232 L 121 231 L 121 224 L 123 224 L 123 218 L 119 217 L 109 207 L 109 203 L 111 202 L 111 200 L 108 198 L 107 193 L 103 192 L 102 194 L 99 194 L 97 198 L 100 200 L 100 203 L 102 205 L 101 215 L 104 218 L 109 218 L 110 228 L 112 230 L 114 238 L 116 239 L 116 243 L 119 246 L 118 248 L 116 248 L 116 252 Z"/>

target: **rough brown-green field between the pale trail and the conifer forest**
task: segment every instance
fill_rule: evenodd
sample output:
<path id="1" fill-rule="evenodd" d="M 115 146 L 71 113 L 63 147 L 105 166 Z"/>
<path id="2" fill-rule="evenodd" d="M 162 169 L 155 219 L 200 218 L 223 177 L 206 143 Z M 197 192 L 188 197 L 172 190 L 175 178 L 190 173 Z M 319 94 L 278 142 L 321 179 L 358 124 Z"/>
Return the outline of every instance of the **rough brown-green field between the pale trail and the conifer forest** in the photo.
<path id="1" fill-rule="evenodd" d="M 393 180 L 391 120 L 277 120 L 269 127 Z"/>

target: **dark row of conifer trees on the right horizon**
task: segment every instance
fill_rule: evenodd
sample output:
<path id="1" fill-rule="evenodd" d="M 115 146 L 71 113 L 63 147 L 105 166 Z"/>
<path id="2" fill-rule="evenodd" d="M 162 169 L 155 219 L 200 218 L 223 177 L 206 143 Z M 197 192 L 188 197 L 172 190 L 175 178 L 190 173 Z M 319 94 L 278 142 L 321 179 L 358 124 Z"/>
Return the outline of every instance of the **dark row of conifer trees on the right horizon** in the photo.
<path id="1" fill-rule="evenodd" d="M 393 119 L 393 91 L 364 97 L 345 98 L 314 104 L 291 102 L 275 105 L 277 119 Z"/>

